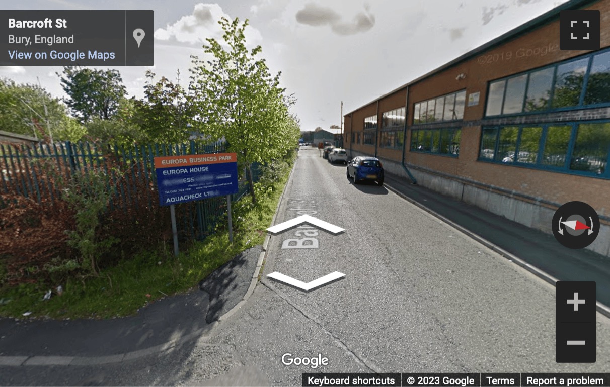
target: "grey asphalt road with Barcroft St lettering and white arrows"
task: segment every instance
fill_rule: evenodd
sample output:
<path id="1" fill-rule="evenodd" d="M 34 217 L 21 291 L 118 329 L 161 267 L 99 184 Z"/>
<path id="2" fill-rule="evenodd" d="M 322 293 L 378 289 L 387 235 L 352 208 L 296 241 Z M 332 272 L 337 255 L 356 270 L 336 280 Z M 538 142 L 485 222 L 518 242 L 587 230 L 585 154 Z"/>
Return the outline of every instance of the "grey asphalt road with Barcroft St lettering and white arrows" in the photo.
<path id="1" fill-rule="evenodd" d="M 300 151 L 276 224 L 303 211 L 346 231 L 310 232 L 312 248 L 282 249 L 312 229 L 274 236 L 264 275 L 343 279 L 307 293 L 264 279 L 192 343 L 107 366 L 17 367 L 12 384 L 300 386 L 303 372 L 610 371 L 608 318 L 597 314 L 596 363 L 556 363 L 553 286 L 385 187 L 353 185 L 317 149 Z M 285 365 L 285 353 L 328 364 Z"/>

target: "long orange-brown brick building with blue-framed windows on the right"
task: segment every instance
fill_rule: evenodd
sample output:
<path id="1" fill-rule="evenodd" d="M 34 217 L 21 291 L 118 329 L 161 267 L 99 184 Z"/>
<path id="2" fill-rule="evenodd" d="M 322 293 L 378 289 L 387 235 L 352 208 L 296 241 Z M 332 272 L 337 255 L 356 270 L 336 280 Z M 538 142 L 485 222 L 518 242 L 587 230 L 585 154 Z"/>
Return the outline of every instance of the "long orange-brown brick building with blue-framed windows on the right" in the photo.
<path id="1" fill-rule="evenodd" d="M 559 49 L 559 12 L 600 10 L 598 51 Z M 610 0 L 572 0 L 344 117 L 351 156 L 551 233 L 554 211 L 600 215 L 610 256 Z"/>

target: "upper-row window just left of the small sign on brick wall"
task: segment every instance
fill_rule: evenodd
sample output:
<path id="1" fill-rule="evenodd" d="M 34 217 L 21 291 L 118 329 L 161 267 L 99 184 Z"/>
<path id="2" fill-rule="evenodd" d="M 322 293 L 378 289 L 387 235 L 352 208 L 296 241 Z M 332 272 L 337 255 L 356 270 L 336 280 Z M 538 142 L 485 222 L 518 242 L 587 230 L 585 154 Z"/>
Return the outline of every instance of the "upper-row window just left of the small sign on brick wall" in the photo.
<path id="1" fill-rule="evenodd" d="M 464 119 L 465 102 L 465 90 L 417 102 L 413 110 L 413 124 Z"/>

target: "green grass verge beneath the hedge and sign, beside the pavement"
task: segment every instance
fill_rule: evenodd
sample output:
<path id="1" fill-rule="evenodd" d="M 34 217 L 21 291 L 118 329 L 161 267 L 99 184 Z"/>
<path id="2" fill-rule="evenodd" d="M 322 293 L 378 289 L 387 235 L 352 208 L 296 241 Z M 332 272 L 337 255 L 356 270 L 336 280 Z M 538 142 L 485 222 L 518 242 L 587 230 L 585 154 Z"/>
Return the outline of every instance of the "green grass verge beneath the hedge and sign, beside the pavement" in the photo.
<path id="1" fill-rule="evenodd" d="M 43 300 L 48 289 L 37 285 L 0 289 L 0 316 L 23 318 L 23 313 L 31 312 L 28 318 L 113 318 L 135 314 L 166 295 L 186 293 L 235 255 L 263 243 L 289 174 L 287 168 L 264 194 L 261 191 L 256 206 L 249 196 L 233 205 L 232 244 L 228 227 L 221 224 L 215 234 L 178 257 L 164 248 L 143 252 L 102 271 L 98 278 L 66 283 L 61 296 L 48 300 Z"/>

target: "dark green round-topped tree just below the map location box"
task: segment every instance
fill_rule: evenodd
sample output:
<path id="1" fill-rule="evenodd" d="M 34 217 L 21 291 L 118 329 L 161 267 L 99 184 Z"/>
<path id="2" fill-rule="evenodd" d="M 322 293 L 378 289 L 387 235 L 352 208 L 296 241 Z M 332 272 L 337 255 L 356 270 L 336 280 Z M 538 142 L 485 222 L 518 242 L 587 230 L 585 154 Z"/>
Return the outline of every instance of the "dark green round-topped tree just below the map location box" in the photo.
<path id="1" fill-rule="evenodd" d="M 81 122 L 93 118 L 109 119 L 117 113 L 121 99 L 127 94 L 117 70 L 100 70 L 66 66 L 61 78 L 65 99 L 74 116 Z"/>

